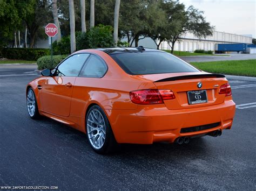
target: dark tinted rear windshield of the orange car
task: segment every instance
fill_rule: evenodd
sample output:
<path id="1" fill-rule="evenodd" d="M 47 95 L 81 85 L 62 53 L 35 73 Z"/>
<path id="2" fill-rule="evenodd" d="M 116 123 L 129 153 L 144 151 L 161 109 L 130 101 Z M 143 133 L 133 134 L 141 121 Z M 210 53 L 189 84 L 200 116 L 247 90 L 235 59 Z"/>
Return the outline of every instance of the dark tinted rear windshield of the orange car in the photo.
<path id="1" fill-rule="evenodd" d="M 199 71 L 165 52 L 125 52 L 110 56 L 126 73 L 131 75 Z"/>

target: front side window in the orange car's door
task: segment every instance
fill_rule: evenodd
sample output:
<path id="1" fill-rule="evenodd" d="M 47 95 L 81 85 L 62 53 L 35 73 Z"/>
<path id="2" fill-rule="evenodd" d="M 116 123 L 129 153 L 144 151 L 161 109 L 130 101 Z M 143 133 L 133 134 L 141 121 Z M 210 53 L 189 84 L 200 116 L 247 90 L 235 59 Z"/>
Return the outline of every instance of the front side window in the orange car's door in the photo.
<path id="1" fill-rule="evenodd" d="M 78 76 L 89 54 L 75 54 L 58 66 L 59 76 Z"/>

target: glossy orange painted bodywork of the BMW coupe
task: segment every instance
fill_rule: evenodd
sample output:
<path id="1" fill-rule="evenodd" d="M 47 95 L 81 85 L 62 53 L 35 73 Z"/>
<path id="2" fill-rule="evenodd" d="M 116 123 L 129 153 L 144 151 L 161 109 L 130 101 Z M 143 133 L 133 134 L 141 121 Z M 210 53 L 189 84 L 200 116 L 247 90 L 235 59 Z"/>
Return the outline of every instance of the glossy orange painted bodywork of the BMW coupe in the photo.
<path id="1" fill-rule="evenodd" d="M 154 82 L 166 77 L 207 74 L 205 72 L 129 75 L 111 58 L 97 49 L 78 51 L 93 53 L 102 58 L 108 69 L 104 77 L 42 76 L 31 81 L 41 115 L 86 132 L 86 111 L 98 104 L 109 119 L 118 143 L 172 143 L 177 137 L 192 137 L 214 130 L 230 129 L 235 114 L 232 96 L 219 94 L 219 87 L 227 80 L 208 77 L 166 82 Z M 202 82 L 207 92 L 207 103 L 188 104 L 187 91 L 198 90 Z M 216 86 L 218 85 L 218 86 Z M 42 89 L 38 89 L 41 86 Z M 161 104 L 140 105 L 130 100 L 130 91 L 169 89 L 175 98 Z M 220 123 L 217 127 L 191 133 L 180 133 L 181 128 Z"/>

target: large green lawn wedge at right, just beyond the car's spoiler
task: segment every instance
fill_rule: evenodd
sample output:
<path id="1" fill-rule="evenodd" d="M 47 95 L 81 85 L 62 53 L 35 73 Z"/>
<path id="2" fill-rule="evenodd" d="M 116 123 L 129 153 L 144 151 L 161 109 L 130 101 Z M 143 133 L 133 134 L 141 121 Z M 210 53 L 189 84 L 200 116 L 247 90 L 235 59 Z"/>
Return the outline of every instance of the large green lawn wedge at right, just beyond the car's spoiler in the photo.
<path id="1" fill-rule="evenodd" d="M 191 62 L 205 72 L 256 77 L 256 60 Z"/>

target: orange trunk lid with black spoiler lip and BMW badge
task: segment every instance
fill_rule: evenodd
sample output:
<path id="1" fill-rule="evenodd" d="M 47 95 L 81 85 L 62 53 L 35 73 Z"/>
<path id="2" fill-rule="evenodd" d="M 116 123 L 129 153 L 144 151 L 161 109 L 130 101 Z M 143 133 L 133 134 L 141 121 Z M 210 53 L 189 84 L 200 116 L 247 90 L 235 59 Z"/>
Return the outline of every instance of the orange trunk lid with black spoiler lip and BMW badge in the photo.
<path id="1" fill-rule="evenodd" d="M 201 88 L 198 88 L 199 82 L 202 84 Z M 219 94 L 219 88 L 221 85 L 227 83 L 227 80 L 225 79 L 225 76 L 218 74 L 196 74 L 173 76 L 167 79 L 157 80 L 153 83 L 158 89 L 172 90 L 176 96 L 174 100 L 164 101 L 168 109 L 186 109 L 223 103 L 225 94 Z M 206 90 L 207 102 L 189 104 L 187 92 L 198 90 Z"/>

